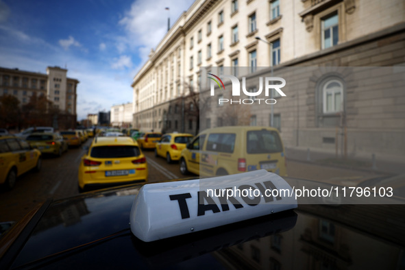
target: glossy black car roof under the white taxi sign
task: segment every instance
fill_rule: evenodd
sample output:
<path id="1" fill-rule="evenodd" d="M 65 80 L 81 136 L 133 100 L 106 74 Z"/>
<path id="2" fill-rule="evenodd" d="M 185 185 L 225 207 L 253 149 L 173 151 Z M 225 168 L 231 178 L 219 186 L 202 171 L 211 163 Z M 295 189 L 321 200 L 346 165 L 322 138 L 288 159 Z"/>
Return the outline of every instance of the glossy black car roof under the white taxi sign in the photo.
<path id="1" fill-rule="evenodd" d="M 85 193 L 45 205 L 43 214 L 34 217 L 38 222 L 27 240 L 3 256 L 0 268 L 403 267 L 404 206 L 301 205 L 297 210 L 144 243 L 129 225 L 140 186 Z"/>

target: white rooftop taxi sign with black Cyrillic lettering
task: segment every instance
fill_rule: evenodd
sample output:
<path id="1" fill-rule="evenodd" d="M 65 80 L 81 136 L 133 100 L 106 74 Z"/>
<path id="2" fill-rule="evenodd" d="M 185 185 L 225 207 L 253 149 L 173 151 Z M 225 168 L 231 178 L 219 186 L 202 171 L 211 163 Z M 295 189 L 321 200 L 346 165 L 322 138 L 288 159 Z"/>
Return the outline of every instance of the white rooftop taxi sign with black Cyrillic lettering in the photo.
<path id="1" fill-rule="evenodd" d="M 282 177 L 265 170 L 145 184 L 132 205 L 131 231 L 151 242 L 207 230 L 297 208 L 293 194 Z"/>

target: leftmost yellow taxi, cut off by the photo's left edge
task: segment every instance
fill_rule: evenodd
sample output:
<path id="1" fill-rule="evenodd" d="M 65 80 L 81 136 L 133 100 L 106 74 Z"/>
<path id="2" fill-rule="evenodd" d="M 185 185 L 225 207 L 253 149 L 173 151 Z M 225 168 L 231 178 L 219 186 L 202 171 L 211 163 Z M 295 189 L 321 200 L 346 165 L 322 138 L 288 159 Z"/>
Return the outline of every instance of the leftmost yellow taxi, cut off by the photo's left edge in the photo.
<path id="1" fill-rule="evenodd" d="M 13 136 L 0 137 L 0 184 L 11 189 L 16 177 L 34 169 L 40 171 L 41 153 L 29 143 Z"/>

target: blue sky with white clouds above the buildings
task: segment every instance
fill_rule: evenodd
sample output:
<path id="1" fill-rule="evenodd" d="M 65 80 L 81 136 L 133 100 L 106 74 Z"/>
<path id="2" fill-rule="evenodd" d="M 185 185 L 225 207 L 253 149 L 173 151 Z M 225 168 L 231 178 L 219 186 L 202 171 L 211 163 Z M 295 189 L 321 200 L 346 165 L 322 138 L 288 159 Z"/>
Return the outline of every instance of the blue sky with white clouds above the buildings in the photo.
<path id="1" fill-rule="evenodd" d="M 0 0 L 0 66 L 79 80 L 77 119 L 132 102 L 131 83 L 152 47 L 193 0 Z M 169 7 L 170 11 L 164 10 Z"/>

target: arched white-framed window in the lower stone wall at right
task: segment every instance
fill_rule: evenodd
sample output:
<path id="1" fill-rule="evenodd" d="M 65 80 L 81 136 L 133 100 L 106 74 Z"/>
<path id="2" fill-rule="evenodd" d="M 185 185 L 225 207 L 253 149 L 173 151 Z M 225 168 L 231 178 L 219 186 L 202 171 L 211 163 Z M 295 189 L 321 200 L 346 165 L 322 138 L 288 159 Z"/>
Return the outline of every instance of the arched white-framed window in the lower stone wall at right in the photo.
<path id="1" fill-rule="evenodd" d="M 332 79 L 323 86 L 323 113 L 336 113 L 343 110 L 343 86 Z"/>

